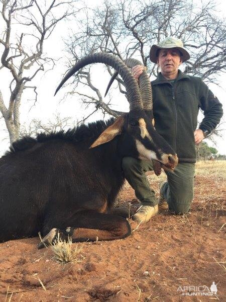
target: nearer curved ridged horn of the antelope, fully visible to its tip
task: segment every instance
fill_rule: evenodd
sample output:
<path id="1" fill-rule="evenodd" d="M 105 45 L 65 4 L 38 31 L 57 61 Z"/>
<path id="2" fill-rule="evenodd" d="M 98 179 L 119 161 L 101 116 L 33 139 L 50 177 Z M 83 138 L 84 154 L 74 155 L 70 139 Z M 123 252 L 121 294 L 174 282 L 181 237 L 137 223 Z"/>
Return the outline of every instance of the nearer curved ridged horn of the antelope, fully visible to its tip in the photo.
<path id="1" fill-rule="evenodd" d="M 104 63 L 110 65 L 115 68 L 117 72 L 121 75 L 125 87 L 127 90 L 128 101 L 130 103 L 130 110 L 136 108 L 143 108 L 140 90 L 137 84 L 137 81 L 134 79 L 130 69 L 127 65 L 117 56 L 109 54 L 109 53 L 95 53 L 88 55 L 82 59 L 80 59 L 64 76 L 63 80 L 60 82 L 59 86 L 56 89 L 56 93 L 63 86 L 63 84 L 80 68 L 91 64 L 91 63 Z"/>

